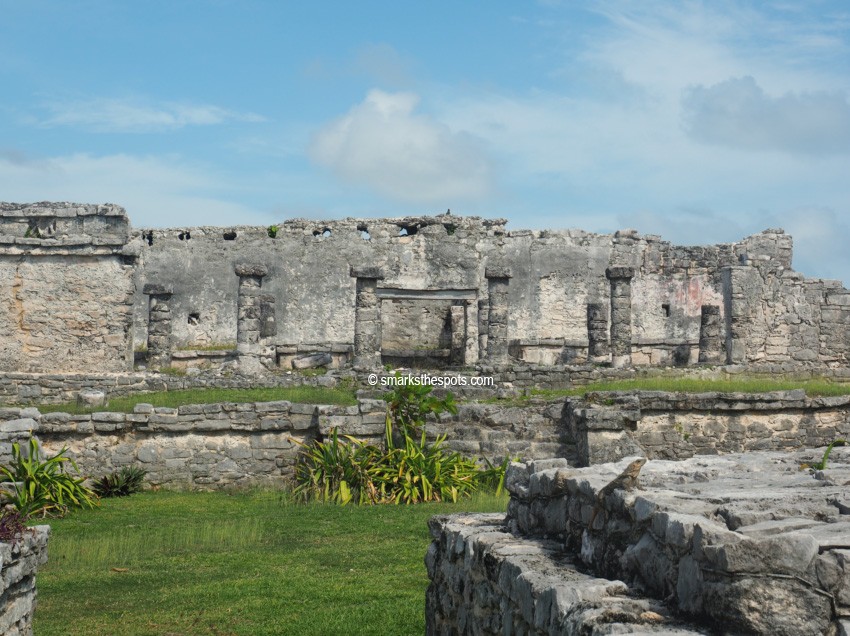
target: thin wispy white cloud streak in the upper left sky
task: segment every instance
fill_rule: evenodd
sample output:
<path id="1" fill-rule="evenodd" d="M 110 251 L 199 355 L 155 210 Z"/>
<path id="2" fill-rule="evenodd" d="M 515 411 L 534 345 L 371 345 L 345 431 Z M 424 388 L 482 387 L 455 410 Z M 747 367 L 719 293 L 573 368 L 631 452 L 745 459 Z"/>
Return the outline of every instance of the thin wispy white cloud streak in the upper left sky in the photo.
<path id="1" fill-rule="evenodd" d="M 208 104 L 144 104 L 127 99 L 98 99 L 49 104 L 44 127 L 76 126 L 93 132 L 161 132 L 226 121 L 264 121 L 255 113 L 236 113 Z"/>

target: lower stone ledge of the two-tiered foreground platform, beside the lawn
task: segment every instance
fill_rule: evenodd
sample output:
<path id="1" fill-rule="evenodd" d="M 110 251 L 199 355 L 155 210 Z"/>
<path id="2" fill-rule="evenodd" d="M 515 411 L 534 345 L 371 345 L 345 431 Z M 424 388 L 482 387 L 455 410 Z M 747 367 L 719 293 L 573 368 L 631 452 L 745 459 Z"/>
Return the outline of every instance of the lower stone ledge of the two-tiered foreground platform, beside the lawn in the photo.
<path id="1" fill-rule="evenodd" d="M 621 581 L 582 573 L 557 542 L 517 539 L 504 522 L 500 514 L 431 519 L 426 634 L 704 633 Z"/>

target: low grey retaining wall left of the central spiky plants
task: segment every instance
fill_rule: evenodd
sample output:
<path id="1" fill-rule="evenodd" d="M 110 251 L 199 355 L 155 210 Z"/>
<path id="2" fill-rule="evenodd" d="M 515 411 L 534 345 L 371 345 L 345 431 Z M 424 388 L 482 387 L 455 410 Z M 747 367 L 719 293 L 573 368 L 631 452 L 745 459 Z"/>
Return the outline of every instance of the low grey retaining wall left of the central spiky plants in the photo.
<path id="1" fill-rule="evenodd" d="M 123 466 L 148 471 L 154 486 L 212 488 L 280 485 L 293 474 L 298 443 L 342 431 L 373 441 L 384 432 L 385 404 L 358 406 L 290 402 L 136 406 L 133 413 L 41 414 L 35 408 L 0 409 L 0 462 L 11 443 L 36 436 L 45 452 L 63 447 L 82 474 L 99 476 Z"/>

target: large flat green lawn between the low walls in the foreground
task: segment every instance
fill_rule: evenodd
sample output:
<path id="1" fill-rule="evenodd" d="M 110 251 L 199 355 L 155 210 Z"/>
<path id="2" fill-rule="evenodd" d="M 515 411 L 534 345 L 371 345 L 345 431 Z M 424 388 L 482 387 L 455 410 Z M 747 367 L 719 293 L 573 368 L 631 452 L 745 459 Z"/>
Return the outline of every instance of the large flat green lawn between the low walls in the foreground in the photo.
<path id="1" fill-rule="evenodd" d="M 299 505 L 274 492 L 103 500 L 50 521 L 35 633 L 422 634 L 427 520 L 506 505 L 493 495 Z"/>

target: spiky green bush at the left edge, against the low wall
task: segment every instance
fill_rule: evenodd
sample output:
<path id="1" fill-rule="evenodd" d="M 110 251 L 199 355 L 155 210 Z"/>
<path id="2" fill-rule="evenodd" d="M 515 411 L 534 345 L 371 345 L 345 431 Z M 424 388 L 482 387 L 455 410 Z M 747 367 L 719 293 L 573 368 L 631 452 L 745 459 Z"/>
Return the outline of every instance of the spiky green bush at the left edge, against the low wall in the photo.
<path id="1" fill-rule="evenodd" d="M 53 457 L 41 459 L 41 449 L 35 439 L 29 440 L 29 452 L 21 452 L 20 444 L 12 444 L 12 463 L 0 467 L 0 481 L 11 482 L 12 492 L 4 503 L 12 504 L 21 514 L 29 517 L 48 513 L 59 516 L 71 507 L 92 508 L 96 495 L 83 485 L 77 464 L 65 457 L 63 448 Z M 77 477 L 66 467 L 70 465 Z"/>

